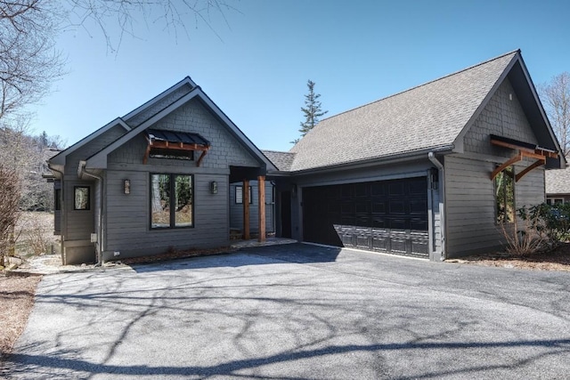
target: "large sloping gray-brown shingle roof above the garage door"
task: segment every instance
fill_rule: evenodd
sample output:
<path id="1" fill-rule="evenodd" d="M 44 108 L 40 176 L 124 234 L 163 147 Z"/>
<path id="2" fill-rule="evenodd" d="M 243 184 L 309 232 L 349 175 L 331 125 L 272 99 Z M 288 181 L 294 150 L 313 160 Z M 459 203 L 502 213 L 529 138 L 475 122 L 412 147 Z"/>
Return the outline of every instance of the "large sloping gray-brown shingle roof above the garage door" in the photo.
<path id="1" fill-rule="evenodd" d="M 517 53 L 322 120 L 290 150 L 291 170 L 451 145 Z"/>

